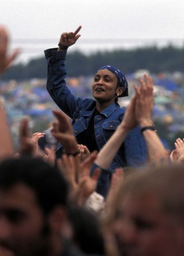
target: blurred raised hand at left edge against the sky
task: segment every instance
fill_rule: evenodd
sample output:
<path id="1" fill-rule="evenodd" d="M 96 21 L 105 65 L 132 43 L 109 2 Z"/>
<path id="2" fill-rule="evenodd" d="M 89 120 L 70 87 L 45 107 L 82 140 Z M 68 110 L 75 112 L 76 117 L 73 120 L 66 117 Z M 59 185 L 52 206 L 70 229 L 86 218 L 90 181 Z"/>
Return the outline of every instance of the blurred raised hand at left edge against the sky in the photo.
<path id="1" fill-rule="evenodd" d="M 14 50 L 10 55 L 7 54 L 9 44 L 9 33 L 7 29 L 0 25 L 0 74 L 8 67 L 17 55 L 20 54 L 20 49 Z"/>

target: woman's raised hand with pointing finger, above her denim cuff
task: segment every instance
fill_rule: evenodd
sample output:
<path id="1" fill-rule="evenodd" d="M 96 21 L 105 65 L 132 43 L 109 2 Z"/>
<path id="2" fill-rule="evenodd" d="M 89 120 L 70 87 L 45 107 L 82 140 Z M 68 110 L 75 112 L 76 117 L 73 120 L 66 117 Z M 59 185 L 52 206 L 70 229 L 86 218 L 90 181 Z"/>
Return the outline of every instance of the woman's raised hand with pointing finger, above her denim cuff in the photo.
<path id="1" fill-rule="evenodd" d="M 81 35 L 78 35 L 78 32 L 81 30 L 81 26 L 79 26 L 75 32 L 64 32 L 60 36 L 59 40 L 59 48 L 58 50 L 66 50 L 68 47 L 72 46 L 72 44 L 75 44 L 76 40 L 79 39 Z"/>

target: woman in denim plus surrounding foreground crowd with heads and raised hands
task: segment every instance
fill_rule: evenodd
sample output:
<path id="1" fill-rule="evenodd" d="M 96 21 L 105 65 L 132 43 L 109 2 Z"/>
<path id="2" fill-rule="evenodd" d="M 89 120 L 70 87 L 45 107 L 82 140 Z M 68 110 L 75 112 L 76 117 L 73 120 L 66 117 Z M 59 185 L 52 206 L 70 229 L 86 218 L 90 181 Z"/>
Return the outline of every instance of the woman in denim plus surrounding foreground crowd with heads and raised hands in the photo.
<path id="1" fill-rule="evenodd" d="M 61 109 L 45 133 L 20 122 L 15 152 L 0 101 L 0 255 L 182 256 L 184 254 L 184 140 L 168 152 L 151 121 L 154 83 L 139 78 L 128 107 L 128 82 L 112 65 L 94 75 L 94 100 L 72 95 L 64 61 L 79 31 L 65 32 L 45 51 L 47 89 Z M 0 74 L 19 54 L 7 54 L 0 26 Z M 72 119 L 72 121 L 68 118 Z"/>

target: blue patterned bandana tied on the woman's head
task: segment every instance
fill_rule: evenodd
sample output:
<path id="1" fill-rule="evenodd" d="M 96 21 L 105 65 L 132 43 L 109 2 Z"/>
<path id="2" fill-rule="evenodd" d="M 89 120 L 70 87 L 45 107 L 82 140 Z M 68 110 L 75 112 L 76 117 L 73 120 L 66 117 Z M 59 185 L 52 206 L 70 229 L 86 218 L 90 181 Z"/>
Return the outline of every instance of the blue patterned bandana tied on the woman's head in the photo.
<path id="1" fill-rule="evenodd" d="M 107 69 L 111 71 L 117 77 L 120 87 L 124 88 L 124 92 L 118 97 L 128 96 L 128 82 L 124 74 L 119 69 L 117 69 L 117 67 L 110 66 L 110 65 L 105 65 L 98 70 L 102 70 L 102 69 Z"/>

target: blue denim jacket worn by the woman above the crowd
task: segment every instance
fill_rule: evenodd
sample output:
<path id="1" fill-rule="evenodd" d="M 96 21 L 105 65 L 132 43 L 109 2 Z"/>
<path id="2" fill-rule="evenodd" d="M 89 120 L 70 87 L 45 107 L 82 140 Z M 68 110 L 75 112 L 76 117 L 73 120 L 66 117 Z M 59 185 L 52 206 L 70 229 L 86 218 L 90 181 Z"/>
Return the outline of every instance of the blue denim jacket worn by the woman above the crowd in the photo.
<path id="1" fill-rule="evenodd" d="M 96 101 L 93 99 L 81 99 L 72 95 L 66 86 L 66 68 L 64 61 L 66 51 L 57 51 L 57 48 L 45 51 L 48 62 L 47 90 L 57 106 L 72 119 L 74 134 L 78 135 L 87 129 L 91 116 L 95 110 Z M 120 108 L 112 103 L 94 118 L 95 139 L 100 150 L 109 140 L 122 121 L 125 108 Z M 108 156 L 107 156 L 108 157 Z M 118 150 L 110 166 L 112 172 L 117 167 L 143 165 L 147 160 L 147 149 L 140 127 L 131 130 Z"/>

